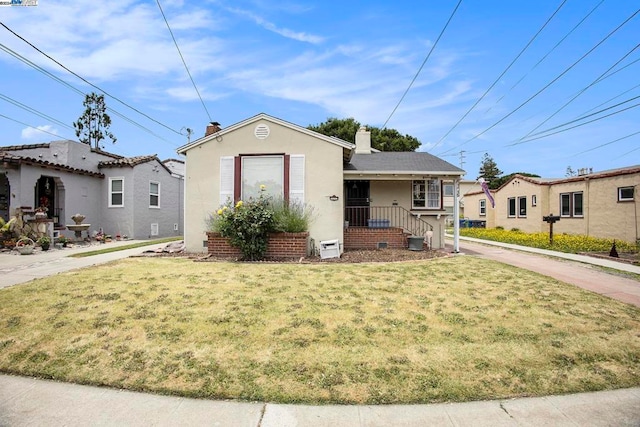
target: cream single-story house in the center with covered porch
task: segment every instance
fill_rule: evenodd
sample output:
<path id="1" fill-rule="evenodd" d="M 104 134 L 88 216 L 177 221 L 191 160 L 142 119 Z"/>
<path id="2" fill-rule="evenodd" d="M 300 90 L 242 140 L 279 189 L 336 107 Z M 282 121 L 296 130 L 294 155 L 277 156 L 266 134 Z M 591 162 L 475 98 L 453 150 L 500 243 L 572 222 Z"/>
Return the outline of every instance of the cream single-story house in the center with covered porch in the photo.
<path id="1" fill-rule="evenodd" d="M 352 229 L 388 227 L 431 231 L 432 247 L 443 248 L 443 182 L 464 174 L 428 153 L 372 150 L 366 129 L 354 145 L 266 114 L 225 129 L 212 123 L 178 153 L 186 156 L 189 252 L 206 250 L 206 220 L 221 205 L 255 196 L 260 185 L 313 209 L 310 251 L 327 240 L 351 247 L 345 236 Z"/>

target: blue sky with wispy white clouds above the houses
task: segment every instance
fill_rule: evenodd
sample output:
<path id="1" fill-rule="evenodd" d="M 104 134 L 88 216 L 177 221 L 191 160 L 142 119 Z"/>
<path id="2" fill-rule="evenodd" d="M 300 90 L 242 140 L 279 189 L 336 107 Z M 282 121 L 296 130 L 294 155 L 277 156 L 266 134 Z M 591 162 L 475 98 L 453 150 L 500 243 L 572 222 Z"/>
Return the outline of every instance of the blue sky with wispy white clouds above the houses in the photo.
<path id="1" fill-rule="evenodd" d="M 179 158 L 186 128 L 193 140 L 210 119 L 226 127 L 264 112 L 305 127 L 329 117 L 388 121 L 418 138 L 420 151 L 455 165 L 464 150 L 469 179 L 484 153 L 505 173 L 549 178 L 565 176 L 567 166 L 640 164 L 634 1 L 463 0 L 426 63 L 457 0 L 160 4 L 206 109 L 155 1 L 40 0 L 0 8 L 0 21 L 117 98 L 106 97 L 118 141 L 105 149 L 125 156 Z M 60 139 L 51 134 L 75 139 L 78 91 L 97 89 L 5 27 L 0 44 L 0 146 Z"/>

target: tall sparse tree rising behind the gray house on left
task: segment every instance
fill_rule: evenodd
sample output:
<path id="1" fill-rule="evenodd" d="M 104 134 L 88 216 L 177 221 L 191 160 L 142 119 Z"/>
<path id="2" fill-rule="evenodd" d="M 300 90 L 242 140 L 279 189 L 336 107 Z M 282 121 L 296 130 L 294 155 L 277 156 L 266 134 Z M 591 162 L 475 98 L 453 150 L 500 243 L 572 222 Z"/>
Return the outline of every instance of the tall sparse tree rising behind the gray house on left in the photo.
<path id="1" fill-rule="evenodd" d="M 109 137 L 111 142 L 116 143 L 116 137 L 109 131 L 111 117 L 106 113 L 107 105 L 104 102 L 104 95 L 91 92 L 84 98 L 85 110 L 77 122 L 73 124 L 76 136 L 79 141 L 100 149 L 100 141 Z"/>

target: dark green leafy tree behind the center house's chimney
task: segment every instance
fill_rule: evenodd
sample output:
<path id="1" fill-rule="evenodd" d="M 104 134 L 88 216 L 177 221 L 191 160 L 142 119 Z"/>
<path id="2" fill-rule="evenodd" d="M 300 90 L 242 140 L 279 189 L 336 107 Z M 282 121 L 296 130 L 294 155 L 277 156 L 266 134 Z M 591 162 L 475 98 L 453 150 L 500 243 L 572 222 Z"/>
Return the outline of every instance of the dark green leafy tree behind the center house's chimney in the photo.
<path id="1" fill-rule="evenodd" d="M 326 122 L 309 125 L 307 129 L 327 136 L 335 136 L 348 142 L 355 142 L 356 132 L 361 125 L 354 118 L 337 119 L 330 117 Z M 380 151 L 415 151 L 420 141 L 411 135 L 402 135 L 395 129 L 380 129 L 367 126 L 371 132 L 371 147 Z"/>

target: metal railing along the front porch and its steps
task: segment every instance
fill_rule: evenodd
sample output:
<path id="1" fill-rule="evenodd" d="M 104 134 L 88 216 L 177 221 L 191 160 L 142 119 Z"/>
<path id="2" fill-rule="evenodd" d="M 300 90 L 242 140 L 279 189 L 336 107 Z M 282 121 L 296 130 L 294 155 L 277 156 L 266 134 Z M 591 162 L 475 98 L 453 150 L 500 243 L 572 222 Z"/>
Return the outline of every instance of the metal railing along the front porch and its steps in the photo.
<path id="1" fill-rule="evenodd" d="M 433 231 L 433 225 L 402 206 L 347 206 L 344 210 L 349 227 L 398 227 L 415 236 Z"/>

